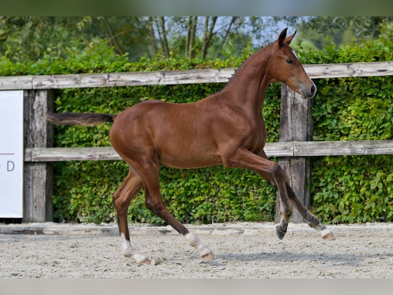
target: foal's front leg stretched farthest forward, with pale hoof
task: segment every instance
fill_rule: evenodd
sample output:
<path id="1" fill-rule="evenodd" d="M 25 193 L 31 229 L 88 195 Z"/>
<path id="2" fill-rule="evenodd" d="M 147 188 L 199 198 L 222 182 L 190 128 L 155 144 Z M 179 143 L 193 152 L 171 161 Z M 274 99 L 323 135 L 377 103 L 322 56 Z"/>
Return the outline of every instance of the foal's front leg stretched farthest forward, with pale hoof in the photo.
<path id="1" fill-rule="evenodd" d="M 326 240 L 333 240 L 336 239 L 333 233 L 326 227 L 324 226 L 319 219 L 312 214 L 304 205 L 303 203 L 299 200 L 299 198 L 296 196 L 296 194 L 293 192 L 292 188 L 289 186 L 288 182 L 286 182 L 286 189 L 288 193 L 288 198 L 292 205 L 299 211 L 299 213 L 302 215 L 303 219 L 305 222 L 313 229 L 317 230 L 320 232 L 321 237 Z"/>

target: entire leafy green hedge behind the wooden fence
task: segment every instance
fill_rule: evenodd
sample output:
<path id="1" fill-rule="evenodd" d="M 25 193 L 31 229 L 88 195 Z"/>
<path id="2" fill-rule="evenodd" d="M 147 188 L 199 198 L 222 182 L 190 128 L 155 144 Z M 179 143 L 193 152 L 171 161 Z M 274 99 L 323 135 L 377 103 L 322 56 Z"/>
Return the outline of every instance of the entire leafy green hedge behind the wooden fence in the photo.
<path id="1" fill-rule="evenodd" d="M 391 35 L 374 42 L 323 51 L 297 48 L 304 64 L 390 60 Z M 294 46 L 296 47 L 296 46 Z M 299 46 L 298 46 L 299 47 Z M 121 72 L 239 66 L 248 56 L 225 61 L 146 59 L 130 63 L 105 43 L 80 50 L 68 49 L 67 59 L 50 51 L 36 63 L 0 60 L 0 75 L 39 75 L 75 72 Z M 80 53 L 81 52 L 81 53 Z M 316 79 L 314 140 L 392 139 L 392 77 Z M 57 112 L 118 114 L 147 99 L 190 102 L 216 93 L 224 84 L 190 84 L 56 90 Z M 280 85 L 268 88 L 264 102 L 268 141 L 279 139 Z M 110 124 L 97 127 L 56 126 L 55 146 L 108 146 Z M 327 223 L 393 220 L 393 167 L 391 156 L 312 158 L 311 210 Z M 57 222 L 112 222 L 111 195 L 127 174 L 123 161 L 72 161 L 54 163 L 54 217 Z M 272 221 L 276 193 L 252 171 L 212 167 L 195 170 L 162 168 L 161 191 L 170 212 L 183 223 L 233 220 Z M 146 210 L 143 191 L 133 200 L 131 222 L 162 224 Z"/>

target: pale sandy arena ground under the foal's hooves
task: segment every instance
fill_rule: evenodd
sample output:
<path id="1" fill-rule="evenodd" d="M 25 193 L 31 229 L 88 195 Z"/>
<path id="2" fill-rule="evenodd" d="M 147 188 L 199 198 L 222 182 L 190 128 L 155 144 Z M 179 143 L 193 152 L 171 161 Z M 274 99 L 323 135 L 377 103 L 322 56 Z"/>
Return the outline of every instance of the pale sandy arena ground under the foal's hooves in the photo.
<path id="1" fill-rule="evenodd" d="M 116 225 L 0 224 L 0 278 L 393 278 L 393 223 L 329 226 L 335 241 L 305 224 L 289 224 L 283 240 L 272 223 L 188 228 L 214 261 L 169 226 L 130 225 L 151 261 L 137 265 L 121 254 Z"/>

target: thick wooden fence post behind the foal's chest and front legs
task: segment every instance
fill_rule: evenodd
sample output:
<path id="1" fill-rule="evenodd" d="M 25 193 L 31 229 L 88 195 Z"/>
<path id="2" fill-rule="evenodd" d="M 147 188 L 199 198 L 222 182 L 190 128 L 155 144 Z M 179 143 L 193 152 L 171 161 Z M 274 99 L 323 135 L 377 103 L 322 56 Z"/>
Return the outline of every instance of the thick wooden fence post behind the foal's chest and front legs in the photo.
<path id="1" fill-rule="evenodd" d="M 280 141 L 312 140 L 312 99 L 302 99 L 285 84 L 281 88 Z M 310 208 L 309 184 L 311 167 L 309 157 L 280 157 L 287 181 L 294 193 Z M 280 220 L 280 204 L 277 199 L 276 220 Z M 293 208 L 290 222 L 302 223 L 303 217 Z"/>

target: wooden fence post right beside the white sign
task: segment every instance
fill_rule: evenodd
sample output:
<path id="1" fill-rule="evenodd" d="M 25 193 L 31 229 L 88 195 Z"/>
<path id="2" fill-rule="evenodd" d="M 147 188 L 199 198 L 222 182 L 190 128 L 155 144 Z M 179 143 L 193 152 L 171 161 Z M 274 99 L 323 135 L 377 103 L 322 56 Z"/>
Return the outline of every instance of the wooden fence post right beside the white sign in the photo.
<path id="1" fill-rule="evenodd" d="M 25 148 L 53 146 L 53 126 L 45 113 L 53 110 L 53 90 L 24 91 Z M 53 221 L 53 171 L 49 162 L 24 163 L 23 222 Z"/>

